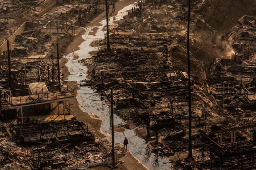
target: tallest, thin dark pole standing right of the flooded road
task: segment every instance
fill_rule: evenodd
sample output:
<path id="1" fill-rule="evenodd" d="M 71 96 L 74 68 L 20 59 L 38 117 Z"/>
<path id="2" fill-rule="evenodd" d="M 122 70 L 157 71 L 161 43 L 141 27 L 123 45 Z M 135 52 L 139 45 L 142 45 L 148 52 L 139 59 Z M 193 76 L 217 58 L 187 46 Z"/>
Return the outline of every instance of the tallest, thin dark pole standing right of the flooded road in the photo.
<path id="1" fill-rule="evenodd" d="M 192 155 L 192 132 L 191 132 L 191 81 L 190 81 L 190 57 L 189 57 L 189 23 L 190 23 L 190 0 L 188 0 L 188 19 L 187 19 L 187 67 L 188 67 L 188 159 L 194 160 Z"/>

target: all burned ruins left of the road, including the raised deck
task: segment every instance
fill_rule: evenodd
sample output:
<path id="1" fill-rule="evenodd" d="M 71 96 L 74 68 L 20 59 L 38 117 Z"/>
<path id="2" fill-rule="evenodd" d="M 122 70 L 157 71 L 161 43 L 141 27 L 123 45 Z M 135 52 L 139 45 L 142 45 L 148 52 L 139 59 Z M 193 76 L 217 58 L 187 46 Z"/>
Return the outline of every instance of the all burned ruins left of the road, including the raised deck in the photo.
<path id="1" fill-rule="evenodd" d="M 82 22 L 103 10 L 85 1 L 62 0 L 0 0 L 0 6 L 0 169 L 74 169 L 79 164 L 88 168 L 111 163 L 109 142 L 95 140 L 90 125 L 71 115 L 67 101 L 74 98 L 74 89 L 62 79 L 65 60 L 57 74 L 55 55 L 58 43 L 62 61 Z"/>

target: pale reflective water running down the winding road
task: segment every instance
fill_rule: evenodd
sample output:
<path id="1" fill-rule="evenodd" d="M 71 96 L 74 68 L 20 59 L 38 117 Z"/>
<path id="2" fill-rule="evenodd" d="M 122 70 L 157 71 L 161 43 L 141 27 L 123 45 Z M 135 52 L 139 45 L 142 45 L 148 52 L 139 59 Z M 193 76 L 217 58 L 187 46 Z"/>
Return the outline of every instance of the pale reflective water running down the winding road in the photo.
<path id="1" fill-rule="evenodd" d="M 115 16 L 116 20 L 120 20 L 124 15 L 127 14 L 127 10 L 131 7 L 127 6 L 120 10 Z M 109 18 L 109 25 L 114 24 L 113 17 Z M 94 27 L 85 28 L 86 32 L 82 35 L 82 38 L 85 41 L 79 46 L 80 50 L 68 54 L 66 57 L 70 60 L 73 59 L 75 53 L 77 53 L 80 58 L 76 60 L 68 61 L 66 66 L 69 69 L 71 75 L 69 76 L 69 81 L 81 81 L 86 77 L 87 68 L 81 62 L 81 59 L 90 58 L 89 52 L 97 50 L 95 47 L 91 47 L 90 44 L 95 39 L 103 39 L 104 33 L 106 31 L 102 31 L 104 25 L 106 25 L 106 20 L 101 22 L 102 26 L 99 26 L 98 31 L 95 35 L 89 35 L 89 32 Z M 82 75 L 82 76 L 81 76 Z M 99 119 L 103 121 L 101 132 L 106 135 L 107 139 L 111 141 L 111 129 L 110 129 L 110 108 L 103 101 L 100 100 L 100 96 L 98 93 L 95 93 L 92 89 L 88 87 L 80 87 L 78 90 L 77 99 L 79 101 L 79 107 L 87 112 L 91 117 L 95 118 L 94 115 L 97 115 Z M 119 125 L 122 123 L 122 119 L 114 115 L 114 125 Z M 157 156 L 154 153 L 147 152 L 147 145 L 144 139 L 139 138 L 133 130 L 127 129 L 125 132 L 115 132 L 115 145 L 123 144 L 124 137 L 127 137 L 129 144 L 128 150 L 131 154 L 139 160 L 146 168 L 148 169 L 171 169 L 170 163 L 163 164 L 164 162 L 170 162 L 166 158 L 161 156 Z M 145 156 L 148 155 L 148 156 Z"/>

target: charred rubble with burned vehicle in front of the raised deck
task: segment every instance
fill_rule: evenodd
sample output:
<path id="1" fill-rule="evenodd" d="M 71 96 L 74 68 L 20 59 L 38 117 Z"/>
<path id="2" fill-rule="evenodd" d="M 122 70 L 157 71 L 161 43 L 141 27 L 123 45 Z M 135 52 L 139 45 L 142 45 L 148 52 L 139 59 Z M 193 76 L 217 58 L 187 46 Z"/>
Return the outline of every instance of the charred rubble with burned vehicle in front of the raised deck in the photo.
<path id="1" fill-rule="evenodd" d="M 111 146 L 96 139 L 91 127 L 76 120 L 40 121 L 27 117 L 24 124 L 9 124 L 6 130 L 1 122 L 1 168 L 34 169 L 59 168 L 68 165 L 93 165 L 111 157 Z M 13 138 L 13 142 L 10 138 Z M 95 141 L 94 141 L 95 140 Z M 87 164 L 88 163 L 88 164 Z M 108 162 L 109 163 L 109 162 Z"/>

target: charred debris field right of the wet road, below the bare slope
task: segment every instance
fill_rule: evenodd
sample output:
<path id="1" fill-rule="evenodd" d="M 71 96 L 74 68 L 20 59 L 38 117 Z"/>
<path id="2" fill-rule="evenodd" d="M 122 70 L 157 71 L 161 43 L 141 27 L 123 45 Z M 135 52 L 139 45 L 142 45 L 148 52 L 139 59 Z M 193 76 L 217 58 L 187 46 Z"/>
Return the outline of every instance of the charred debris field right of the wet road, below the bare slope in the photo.
<path id="1" fill-rule="evenodd" d="M 161 154 L 174 167 L 187 164 L 188 75 L 177 67 L 173 51 L 182 47 L 177 36 L 182 26 L 166 6 L 161 12 L 139 8 L 111 29 L 112 51 L 98 49 L 91 60 L 81 60 L 94 68 L 90 79 L 80 86 L 98 91 L 110 99 L 113 87 L 115 113 L 123 126 L 145 128 L 142 137 L 151 152 Z M 179 14 L 179 15 L 178 15 Z M 164 18 L 173 16 L 173 24 Z M 229 59 L 216 59 L 203 79 L 192 77 L 192 140 L 199 169 L 250 169 L 255 154 L 255 17 L 244 16 L 222 36 L 229 43 Z M 178 30 L 178 31 L 177 31 Z M 175 35 L 173 35 L 175 34 Z M 92 45 L 104 45 L 104 40 Z M 136 128 L 137 127 L 137 128 Z M 136 130 L 135 130 L 136 131 Z"/>

